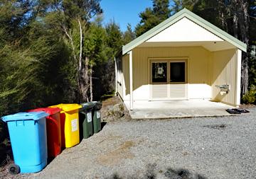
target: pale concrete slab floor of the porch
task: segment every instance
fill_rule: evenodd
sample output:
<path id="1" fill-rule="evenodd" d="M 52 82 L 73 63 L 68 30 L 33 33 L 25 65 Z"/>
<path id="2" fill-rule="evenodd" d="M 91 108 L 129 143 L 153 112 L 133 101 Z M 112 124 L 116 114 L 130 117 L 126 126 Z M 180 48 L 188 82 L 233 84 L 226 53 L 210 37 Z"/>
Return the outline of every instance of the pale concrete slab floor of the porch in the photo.
<path id="1" fill-rule="evenodd" d="M 124 101 L 129 109 L 129 101 Z M 180 117 L 218 117 L 230 115 L 225 110 L 231 105 L 210 100 L 136 101 L 129 111 L 132 119 L 169 119 Z"/>

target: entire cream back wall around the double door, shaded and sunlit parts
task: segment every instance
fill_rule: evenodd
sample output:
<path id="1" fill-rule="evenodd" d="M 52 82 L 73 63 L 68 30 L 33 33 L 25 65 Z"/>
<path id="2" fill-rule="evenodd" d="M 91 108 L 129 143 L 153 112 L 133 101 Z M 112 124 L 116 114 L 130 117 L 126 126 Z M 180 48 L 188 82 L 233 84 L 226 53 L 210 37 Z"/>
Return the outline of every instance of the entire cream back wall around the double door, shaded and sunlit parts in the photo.
<path id="1" fill-rule="evenodd" d="M 208 59 L 203 47 L 137 47 L 133 50 L 134 100 L 149 100 L 149 59 L 188 58 L 188 98 L 210 98 Z M 142 90 L 139 90 L 142 88 Z M 191 90 L 190 90 L 191 89 Z M 142 92 L 143 91 L 143 92 Z"/>

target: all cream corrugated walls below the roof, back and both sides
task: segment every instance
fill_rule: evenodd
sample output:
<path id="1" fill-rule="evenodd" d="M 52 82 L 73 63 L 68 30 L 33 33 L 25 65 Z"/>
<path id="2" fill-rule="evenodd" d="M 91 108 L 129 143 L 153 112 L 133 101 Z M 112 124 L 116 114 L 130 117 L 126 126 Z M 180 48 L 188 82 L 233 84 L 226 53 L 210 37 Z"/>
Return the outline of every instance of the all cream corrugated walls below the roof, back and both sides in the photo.
<path id="1" fill-rule="evenodd" d="M 188 57 L 188 98 L 212 98 L 235 104 L 236 50 L 209 52 L 203 47 L 137 47 L 133 50 L 134 100 L 149 100 L 149 59 Z M 122 86 L 118 92 L 129 100 L 129 55 L 122 57 Z M 215 85 L 228 83 L 231 91 L 220 96 Z M 122 95 L 121 95 L 122 94 Z"/>

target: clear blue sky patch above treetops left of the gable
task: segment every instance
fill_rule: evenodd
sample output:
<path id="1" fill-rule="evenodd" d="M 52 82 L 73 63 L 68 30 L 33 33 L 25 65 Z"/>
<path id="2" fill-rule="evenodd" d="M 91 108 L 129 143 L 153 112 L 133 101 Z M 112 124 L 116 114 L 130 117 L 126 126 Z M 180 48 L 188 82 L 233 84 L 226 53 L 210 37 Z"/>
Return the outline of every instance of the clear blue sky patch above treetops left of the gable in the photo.
<path id="1" fill-rule="evenodd" d="M 100 3 L 103 9 L 104 21 L 109 23 L 114 20 L 119 24 L 122 31 L 127 30 L 127 23 L 132 28 L 139 23 L 139 13 L 145 8 L 152 6 L 151 0 L 102 0 Z"/>

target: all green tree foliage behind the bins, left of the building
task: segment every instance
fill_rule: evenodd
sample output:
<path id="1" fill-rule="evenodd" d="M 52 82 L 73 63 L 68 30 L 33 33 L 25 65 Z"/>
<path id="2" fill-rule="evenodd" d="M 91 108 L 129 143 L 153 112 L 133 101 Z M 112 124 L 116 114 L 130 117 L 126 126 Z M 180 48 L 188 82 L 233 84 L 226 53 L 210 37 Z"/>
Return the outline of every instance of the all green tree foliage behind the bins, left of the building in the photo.
<path id="1" fill-rule="evenodd" d="M 0 116 L 56 103 L 78 103 L 78 57 L 90 59 L 95 99 L 114 90 L 114 55 L 124 41 L 110 22 L 102 26 L 100 0 L 11 0 L 0 3 Z M 75 51 L 63 31 L 73 37 Z"/>

